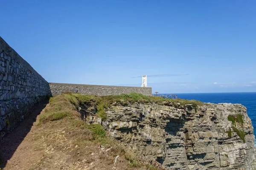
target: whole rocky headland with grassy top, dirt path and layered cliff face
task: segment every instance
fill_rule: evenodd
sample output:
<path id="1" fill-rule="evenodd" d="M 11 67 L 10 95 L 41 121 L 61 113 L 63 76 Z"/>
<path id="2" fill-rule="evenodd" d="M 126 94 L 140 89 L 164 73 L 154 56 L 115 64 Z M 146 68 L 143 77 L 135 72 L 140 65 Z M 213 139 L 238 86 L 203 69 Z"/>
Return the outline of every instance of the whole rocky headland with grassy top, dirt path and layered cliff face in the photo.
<path id="1" fill-rule="evenodd" d="M 3 170 L 256 169 L 253 126 L 239 104 L 64 93 L 29 118 L 0 141 Z"/>

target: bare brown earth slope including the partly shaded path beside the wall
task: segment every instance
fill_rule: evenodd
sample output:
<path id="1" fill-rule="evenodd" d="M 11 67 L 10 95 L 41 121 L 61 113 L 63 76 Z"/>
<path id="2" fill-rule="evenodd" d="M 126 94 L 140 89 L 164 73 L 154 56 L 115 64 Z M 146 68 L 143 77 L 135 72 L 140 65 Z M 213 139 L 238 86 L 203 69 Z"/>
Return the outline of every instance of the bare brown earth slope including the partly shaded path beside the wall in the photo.
<path id="1" fill-rule="evenodd" d="M 89 130 L 74 125 L 73 120 L 38 125 L 38 115 L 44 113 L 45 107 L 38 106 L 0 142 L 3 170 L 151 169 L 137 167 L 112 139 L 93 139 Z"/>

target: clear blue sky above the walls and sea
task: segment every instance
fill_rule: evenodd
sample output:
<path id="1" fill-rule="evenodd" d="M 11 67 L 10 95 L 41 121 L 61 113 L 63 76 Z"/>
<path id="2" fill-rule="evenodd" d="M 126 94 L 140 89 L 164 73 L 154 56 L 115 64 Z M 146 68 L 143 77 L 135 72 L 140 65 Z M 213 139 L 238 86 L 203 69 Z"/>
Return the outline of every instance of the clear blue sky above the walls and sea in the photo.
<path id="1" fill-rule="evenodd" d="M 4 0 L 0 36 L 48 82 L 256 91 L 255 0 Z M 138 77 L 138 78 L 132 78 Z"/>

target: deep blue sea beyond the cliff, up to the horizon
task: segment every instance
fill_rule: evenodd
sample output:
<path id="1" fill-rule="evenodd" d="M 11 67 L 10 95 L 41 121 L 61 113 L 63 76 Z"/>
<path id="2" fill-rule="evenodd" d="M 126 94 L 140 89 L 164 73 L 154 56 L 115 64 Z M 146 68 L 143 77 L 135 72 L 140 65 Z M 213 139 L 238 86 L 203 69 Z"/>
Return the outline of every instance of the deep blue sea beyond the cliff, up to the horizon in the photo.
<path id="1" fill-rule="evenodd" d="M 195 99 L 210 103 L 241 104 L 247 108 L 247 114 L 252 120 L 253 133 L 256 135 L 256 92 L 252 93 L 191 93 L 176 94 L 180 99 Z"/>

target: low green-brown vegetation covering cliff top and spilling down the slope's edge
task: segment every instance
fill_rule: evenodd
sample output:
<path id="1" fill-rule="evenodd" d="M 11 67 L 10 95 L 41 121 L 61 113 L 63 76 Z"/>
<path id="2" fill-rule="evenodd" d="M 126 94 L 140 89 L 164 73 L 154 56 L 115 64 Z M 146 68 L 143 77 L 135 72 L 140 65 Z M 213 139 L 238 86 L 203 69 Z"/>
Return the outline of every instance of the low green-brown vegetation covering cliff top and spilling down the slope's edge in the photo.
<path id="1" fill-rule="evenodd" d="M 107 118 L 106 111 L 111 107 L 113 103 L 119 103 L 121 105 L 128 105 L 129 103 L 163 103 L 164 101 L 179 102 L 181 105 L 188 103 L 193 104 L 189 100 L 173 100 L 173 99 L 163 99 L 160 97 L 144 96 L 141 94 L 122 94 L 119 96 L 90 96 L 81 94 L 64 93 L 55 97 L 49 98 L 49 104 L 44 111 L 38 116 L 38 126 L 51 128 L 67 127 L 63 133 L 67 133 L 67 138 L 72 140 L 72 144 L 76 147 L 79 146 L 79 155 L 87 154 L 81 148 L 86 148 L 89 146 L 105 146 L 111 149 L 111 156 L 121 156 L 123 159 L 128 161 L 128 167 L 131 169 L 143 169 L 143 170 L 157 170 L 158 168 L 151 164 L 145 164 L 141 162 L 136 155 L 132 153 L 127 153 L 116 144 L 114 139 L 111 139 L 105 132 L 103 127 L 99 124 L 88 125 L 87 122 L 80 120 L 80 115 L 78 113 L 79 107 L 81 105 L 87 105 L 90 103 L 96 104 L 96 115 L 105 120 Z M 197 101 L 195 101 L 195 104 Z M 200 104 L 198 102 L 198 104 Z M 54 122 L 54 123 L 53 123 Z M 34 140 L 41 139 L 41 136 L 37 136 Z M 50 141 L 49 141 L 50 142 Z M 79 159 L 77 153 L 74 153 L 73 158 Z M 110 157 L 100 156 L 99 159 L 105 160 Z M 38 163 L 38 166 L 41 166 Z"/>

